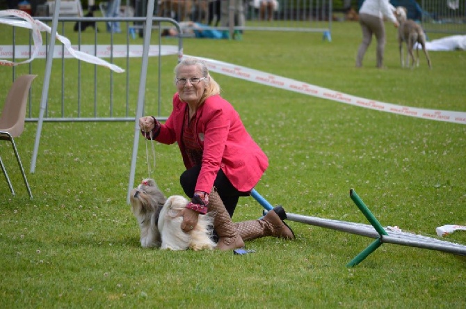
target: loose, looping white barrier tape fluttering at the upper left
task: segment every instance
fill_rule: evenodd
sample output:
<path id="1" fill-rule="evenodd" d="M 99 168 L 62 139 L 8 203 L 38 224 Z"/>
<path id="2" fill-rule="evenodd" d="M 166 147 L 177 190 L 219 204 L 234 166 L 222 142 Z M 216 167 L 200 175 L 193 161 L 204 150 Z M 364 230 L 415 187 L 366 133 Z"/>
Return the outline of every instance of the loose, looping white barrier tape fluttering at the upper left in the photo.
<path id="1" fill-rule="evenodd" d="M 19 17 L 24 20 L 6 18 L 10 16 Z M 0 10 L 0 24 L 8 24 L 10 26 L 18 26 L 22 28 L 31 29 L 33 41 L 34 41 L 34 46 L 32 47 L 32 54 L 29 59 L 27 59 L 26 61 L 19 62 L 19 63 L 16 63 L 13 61 L 7 61 L 7 60 L 0 60 L 0 65 L 14 66 L 14 65 L 21 65 L 24 63 L 29 63 L 33 61 L 35 58 L 37 58 L 40 53 L 43 53 L 41 52 L 41 47 L 42 47 L 41 32 L 51 33 L 51 28 L 47 26 L 47 24 L 44 24 L 43 22 L 40 22 L 39 20 L 33 19 L 31 15 L 23 12 L 22 10 Z M 56 33 L 56 38 L 58 38 L 58 40 L 60 40 L 60 42 L 63 43 L 67 52 L 70 55 L 72 55 L 74 58 L 77 58 L 82 61 L 86 61 L 88 63 L 93 63 L 96 65 L 102 65 L 103 67 L 109 68 L 110 70 L 113 70 L 118 73 L 124 72 L 124 70 L 118 67 L 118 65 L 113 65 L 111 63 L 108 63 L 102 60 L 101 58 L 97 58 L 96 56 L 86 54 L 85 52 L 80 52 L 76 49 L 73 49 L 73 47 L 71 46 L 70 40 L 65 38 L 63 35 L 59 35 L 58 33 Z"/>

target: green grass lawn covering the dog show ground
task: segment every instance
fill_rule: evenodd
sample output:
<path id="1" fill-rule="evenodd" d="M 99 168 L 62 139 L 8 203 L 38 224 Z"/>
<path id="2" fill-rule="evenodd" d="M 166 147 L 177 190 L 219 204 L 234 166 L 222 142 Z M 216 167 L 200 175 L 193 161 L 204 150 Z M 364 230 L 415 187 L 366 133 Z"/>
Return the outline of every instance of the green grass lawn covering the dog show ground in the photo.
<path id="1" fill-rule="evenodd" d="M 419 68 L 403 70 L 395 29 L 387 24 L 388 69 L 375 68 L 375 42 L 364 68 L 356 69 L 360 36 L 359 25 L 350 22 L 332 25 L 332 42 L 323 41 L 319 33 L 250 31 L 242 41 L 186 39 L 184 53 L 372 100 L 466 111 L 465 52 L 431 52 L 433 70 L 424 58 Z M 131 44 L 142 44 L 142 39 Z M 146 110 L 155 113 L 156 58 L 150 62 Z M 175 90 L 175 63 L 176 57 L 163 58 L 164 115 L 170 112 Z M 131 65 L 131 95 L 137 97 L 140 61 L 131 58 Z M 40 60 L 33 62 L 39 75 L 34 81 L 35 111 L 43 67 Z M 93 66 L 82 67 L 82 74 L 92 79 Z M 51 79 L 57 82 L 61 67 L 54 62 L 53 68 Z M 99 69 L 100 78 L 108 74 Z M 465 125 L 372 111 L 212 75 L 268 155 L 270 167 L 257 191 L 272 204 L 294 214 L 367 223 L 349 198 L 354 188 L 384 226 L 436 237 L 437 226 L 466 224 Z M 7 89 L 11 69 L 1 68 L 0 76 Z M 67 65 L 65 76 L 77 76 L 77 66 Z M 73 93 L 73 87 L 65 91 Z M 99 100 L 107 100 L 105 87 Z M 76 100 L 73 95 L 65 98 L 71 104 Z M 59 88 L 49 92 L 49 100 L 60 100 Z M 116 102 L 124 104 L 120 94 Z M 136 99 L 132 109 L 135 106 Z M 37 123 L 28 122 L 16 138 L 28 172 L 36 130 Z M 140 248 L 138 226 L 126 203 L 133 137 L 132 122 L 45 122 L 36 171 L 27 173 L 33 200 L 10 145 L 0 143 L 17 193 L 12 196 L 0 180 L 1 308 L 465 307 L 465 257 L 383 244 L 348 268 L 373 240 L 303 223 L 289 223 L 296 241 L 256 239 L 247 243 L 256 253 L 244 256 Z M 146 145 L 139 143 L 136 181 L 147 177 Z M 155 150 L 153 176 L 167 195 L 182 193 L 179 150 L 158 144 Z M 241 198 L 234 221 L 257 219 L 261 212 L 253 198 Z M 447 240 L 466 244 L 466 233 L 455 232 Z"/>

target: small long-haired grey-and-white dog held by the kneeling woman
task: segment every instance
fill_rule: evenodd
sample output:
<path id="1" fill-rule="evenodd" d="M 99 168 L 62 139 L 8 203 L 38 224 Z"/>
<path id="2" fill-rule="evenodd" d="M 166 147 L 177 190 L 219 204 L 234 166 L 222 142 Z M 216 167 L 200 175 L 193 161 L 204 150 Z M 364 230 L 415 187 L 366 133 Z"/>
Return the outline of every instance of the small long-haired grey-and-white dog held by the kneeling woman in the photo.
<path id="1" fill-rule="evenodd" d="M 214 249 L 214 217 L 199 215 L 198 224 L 191 232 L 183 232 L 183 217 L 179 215 L 188 200 L 184 196 L 166 198 L 155 180 L 147 178 L 130 192 L 131 212 L 138 220 L 140 245 L 143 248 L 194 251 Z"/>

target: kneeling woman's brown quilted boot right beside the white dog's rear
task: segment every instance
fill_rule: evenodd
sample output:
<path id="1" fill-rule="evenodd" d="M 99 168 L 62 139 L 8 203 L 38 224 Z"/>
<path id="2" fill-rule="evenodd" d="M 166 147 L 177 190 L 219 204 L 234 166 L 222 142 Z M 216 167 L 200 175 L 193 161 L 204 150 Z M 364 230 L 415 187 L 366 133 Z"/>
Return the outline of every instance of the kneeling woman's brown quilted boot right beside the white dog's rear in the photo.
<path id="1" fill-rule="evenodd" d="M 244 241 L 239 236 L 236 226 L 232 222 L 225 205 L 223 205 L 217 189 L 212 189 L 209 194 L 208 212 L 214 212 L 214 230 L 218 235 L 217 248 L 222 251 L 243 248 Z"/>

